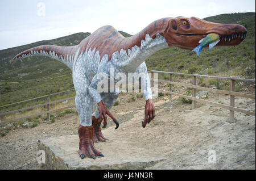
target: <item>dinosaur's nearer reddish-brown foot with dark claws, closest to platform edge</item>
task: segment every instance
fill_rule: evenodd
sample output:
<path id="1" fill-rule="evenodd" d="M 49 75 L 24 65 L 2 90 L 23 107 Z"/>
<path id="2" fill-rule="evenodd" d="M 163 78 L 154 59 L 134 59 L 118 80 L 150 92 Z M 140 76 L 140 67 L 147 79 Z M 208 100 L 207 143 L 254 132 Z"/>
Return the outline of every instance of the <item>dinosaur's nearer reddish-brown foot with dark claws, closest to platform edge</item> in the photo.
<path id="1" fill-rule="evenodd" d="M 97 156 L 104 157 L 104 155 L 96 150 L 93 142 L 93 127 L 83 127 L 79 125 L 79 155 L 81 159 L 85 157 L 96 159 Z"/>

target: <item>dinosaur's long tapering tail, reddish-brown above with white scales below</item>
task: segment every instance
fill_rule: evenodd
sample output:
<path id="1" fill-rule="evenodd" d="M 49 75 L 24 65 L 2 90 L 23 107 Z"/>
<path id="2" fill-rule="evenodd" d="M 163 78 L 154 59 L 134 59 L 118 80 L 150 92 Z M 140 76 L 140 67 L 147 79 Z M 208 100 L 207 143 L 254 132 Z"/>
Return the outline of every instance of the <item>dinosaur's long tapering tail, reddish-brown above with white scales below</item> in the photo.
<path id="1" fill-rule="evenodd" d="M 10 61 L 11 64 L 18 60 L 19 58 L 29 57 L 29 56 L 48 56 L 55 58 L 56 60 L 67 65 L 71 70 L 73 62 L 76 61 L 79 53 L 78 45 L 71 47 L 60 47 L 56 45 L 42 45 L 34 48 L 24 50 L 23 52 L 17 54 L 13 60 Z"/>

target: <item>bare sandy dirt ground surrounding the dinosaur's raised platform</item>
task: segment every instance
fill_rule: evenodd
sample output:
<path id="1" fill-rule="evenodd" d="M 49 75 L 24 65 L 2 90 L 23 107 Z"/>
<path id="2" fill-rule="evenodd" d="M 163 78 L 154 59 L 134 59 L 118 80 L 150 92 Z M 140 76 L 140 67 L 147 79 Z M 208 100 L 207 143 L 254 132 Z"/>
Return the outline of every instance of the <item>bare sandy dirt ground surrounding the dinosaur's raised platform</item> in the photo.
<path id="1" fill-rule="evenodd" d="M 161 161 L 145 169 L 255 169 L 255 117 L 236 113 L 237 123 L 227 123 L 229 111 L 217 107 L 191 104 L 179 100 L 172 103 L 168 96 L 154 100 L 156 117 L 141 127 L 144 100 L 131 101 L 132 94 L 121 94 L 119 105 L 112 113 L 120 122 L 114 131 L 113 121 L 103 131 L 110 141 L 118 142 L 117 153 L 135 146 L 150 150 Z M 209 94 L 208 100 L 229 104 L 229 96 Z M 129 102 L 129 104 L 127 104 Z M 236 99 L 238 107 L 255 110 L 255 101 Z M 67 115 L 55 123 L 42 123 L 35 128 L 20 128 L 0 138 L 0 169 L 43 169 L 36 160 L 36 141 L 64 135 L 76 135 L 79 120 Z M 118 139 L 117 139 L 118 138 Z M 108 146 L 108 142 L 104 143 Z M 97 146 L 97 144 L 96 144 Z M 208 152 L 216 152 L 216 163 L 208 162 Z M 125 153 L 123 153 L 125 154 Z M 143 156 L 143 155 L 142 155 Z"/>

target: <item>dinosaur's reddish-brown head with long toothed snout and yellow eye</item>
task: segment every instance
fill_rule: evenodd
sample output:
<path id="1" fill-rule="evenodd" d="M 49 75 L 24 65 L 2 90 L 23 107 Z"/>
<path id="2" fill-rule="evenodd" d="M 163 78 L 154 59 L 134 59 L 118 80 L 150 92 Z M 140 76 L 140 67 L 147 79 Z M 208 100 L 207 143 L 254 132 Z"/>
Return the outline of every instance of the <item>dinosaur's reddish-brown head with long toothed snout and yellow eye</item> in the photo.
<path id="1" fill-rule="evenodd" d="M 209 33 L 220 36 L 220 42 L 216 46 L 234 46 L 245 39 L 247 31 L 239 24 L 219 24 L 195 17 L 178 16 L 169 20 L 164 37 L 170 47 L 193 49 Z"/>

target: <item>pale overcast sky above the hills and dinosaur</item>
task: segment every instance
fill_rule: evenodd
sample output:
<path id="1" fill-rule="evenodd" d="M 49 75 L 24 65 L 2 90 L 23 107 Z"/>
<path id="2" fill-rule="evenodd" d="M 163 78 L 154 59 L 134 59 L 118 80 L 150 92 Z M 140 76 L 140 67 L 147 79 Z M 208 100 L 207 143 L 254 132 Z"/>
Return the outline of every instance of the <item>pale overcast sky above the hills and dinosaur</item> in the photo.
<path id="1" fill-rule="evenodd" d="M 106 24 L 134 35 L 159 18 L 230 12 L 255 12 L 255 0 L 1 0 L 0 49 L 93 32 Z"/>

